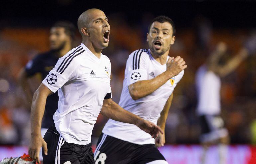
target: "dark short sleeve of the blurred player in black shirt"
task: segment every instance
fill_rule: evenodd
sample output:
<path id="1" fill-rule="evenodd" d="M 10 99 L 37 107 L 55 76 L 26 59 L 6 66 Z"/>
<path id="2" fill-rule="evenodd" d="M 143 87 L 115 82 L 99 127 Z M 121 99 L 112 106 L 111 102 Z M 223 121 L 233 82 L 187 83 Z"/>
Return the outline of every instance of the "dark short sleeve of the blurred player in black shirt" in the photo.
<path id="1" fill-rule="evenodd" d="M 37 55 L 26 64 L 25 71 L 28 76 L 33 76 L 35 73 L 40 72 L 40 68 L 42 67 L 40 58 L 41 55 Z"/>

